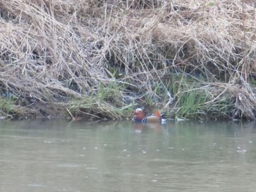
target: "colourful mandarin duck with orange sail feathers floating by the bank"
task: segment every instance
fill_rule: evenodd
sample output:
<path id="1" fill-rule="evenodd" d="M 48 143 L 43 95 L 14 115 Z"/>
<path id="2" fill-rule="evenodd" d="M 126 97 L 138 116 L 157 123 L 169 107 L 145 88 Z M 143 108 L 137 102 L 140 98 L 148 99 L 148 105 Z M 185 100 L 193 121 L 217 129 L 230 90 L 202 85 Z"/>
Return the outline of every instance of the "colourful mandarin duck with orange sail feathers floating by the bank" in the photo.
<path id="1" fill-rule="evenodd" d="M 147 112 L 145 112 L 141 108 L 137 108 L 132 112 L 132 121 L 135 123 L 165 123 L 166 118 L 164 114 L 161 114 L 158 110 L 155 110 L 153 115 L 146 116 Z"/>

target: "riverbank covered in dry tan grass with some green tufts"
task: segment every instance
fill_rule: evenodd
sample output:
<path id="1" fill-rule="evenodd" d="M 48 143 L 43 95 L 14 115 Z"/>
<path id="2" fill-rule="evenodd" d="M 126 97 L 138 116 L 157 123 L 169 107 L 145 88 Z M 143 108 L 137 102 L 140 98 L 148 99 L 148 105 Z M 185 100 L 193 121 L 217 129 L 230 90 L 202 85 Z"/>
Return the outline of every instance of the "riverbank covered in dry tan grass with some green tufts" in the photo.
<path id="1" fill-rule="evenodd" d="M 254 120 L 250 1 L 1 1 L 3 118 Z"/>

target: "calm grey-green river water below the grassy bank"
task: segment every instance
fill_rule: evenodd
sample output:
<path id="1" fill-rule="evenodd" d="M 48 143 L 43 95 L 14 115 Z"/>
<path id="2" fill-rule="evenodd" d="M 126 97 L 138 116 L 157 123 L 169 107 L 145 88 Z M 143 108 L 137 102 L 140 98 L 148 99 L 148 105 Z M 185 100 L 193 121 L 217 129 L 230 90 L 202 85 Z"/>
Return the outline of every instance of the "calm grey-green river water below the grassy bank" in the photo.
<path id="1" fill-rule="evenodd" d="M 255 123 L 0 121 L 0 191 L 255 191 Z"/>

